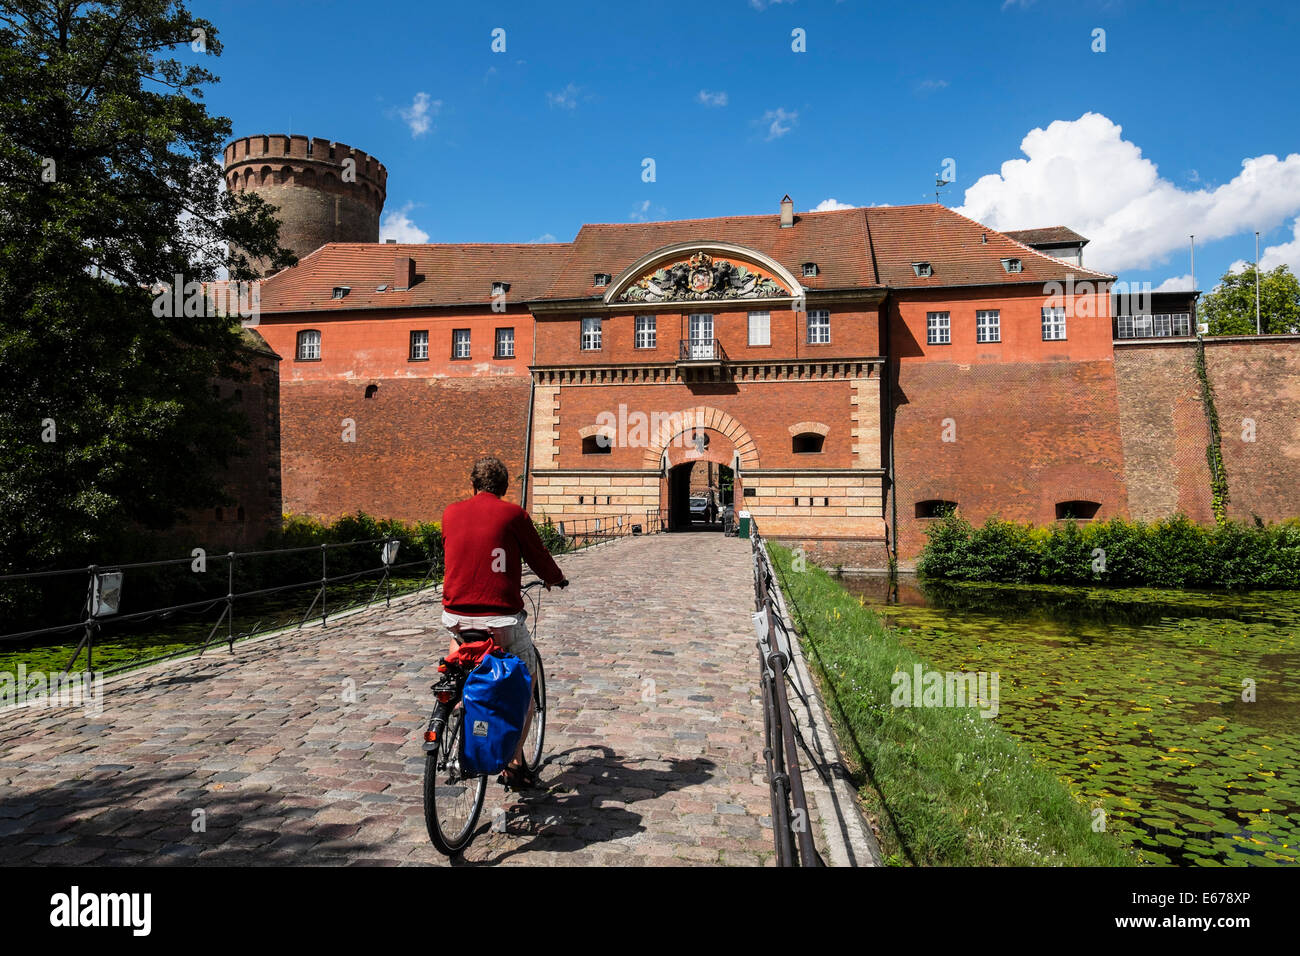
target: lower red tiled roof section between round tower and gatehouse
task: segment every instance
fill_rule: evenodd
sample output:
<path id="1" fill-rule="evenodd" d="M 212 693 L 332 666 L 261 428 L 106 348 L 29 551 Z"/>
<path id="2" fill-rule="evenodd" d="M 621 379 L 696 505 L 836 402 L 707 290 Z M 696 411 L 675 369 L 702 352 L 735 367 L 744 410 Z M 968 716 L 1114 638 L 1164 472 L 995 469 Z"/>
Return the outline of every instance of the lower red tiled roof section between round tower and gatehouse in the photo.
<path id="1" fill-rule="evenodd" d="M 263 312 L 351 311 L 411 306 L 488 306 L 491 284 L 508 282 L 511 303 L 541 298 L 568 256 L 558 243 L 332 242 L 261 284 Z M 416 282 L 393 290 L 398 256 L 415 259 Z M 385 291 L 376 291 L 387 285 Z M 335 286 L 348 286 L 342 299 Z"/>

